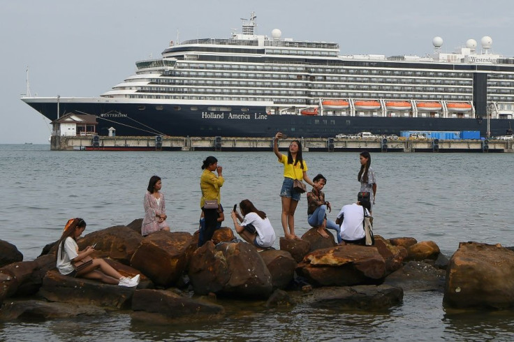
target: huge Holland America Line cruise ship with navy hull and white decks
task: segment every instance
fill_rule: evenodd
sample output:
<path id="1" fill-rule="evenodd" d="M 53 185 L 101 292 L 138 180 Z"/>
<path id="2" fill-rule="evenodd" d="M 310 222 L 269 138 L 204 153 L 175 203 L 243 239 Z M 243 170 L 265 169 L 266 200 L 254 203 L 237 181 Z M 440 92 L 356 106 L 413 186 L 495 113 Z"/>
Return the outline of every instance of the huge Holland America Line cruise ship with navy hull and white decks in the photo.
<path id="1" fill-rule="evenodd" d="M 492 39 L 424 57 L 341 54 L 338 43 L 256 34 L 256 15 L 230 38 L 170 42 L 159 59 L 95 98 L 22 101 L 54 121 L 94 114 L 98 135 L 335 137 L 371 131 L 480 131 L 514 126 L 514 58 Z M 54 132 L 59 135 L 58 132 Z M 80 132 L 78 132 L 80 133 Z"/>

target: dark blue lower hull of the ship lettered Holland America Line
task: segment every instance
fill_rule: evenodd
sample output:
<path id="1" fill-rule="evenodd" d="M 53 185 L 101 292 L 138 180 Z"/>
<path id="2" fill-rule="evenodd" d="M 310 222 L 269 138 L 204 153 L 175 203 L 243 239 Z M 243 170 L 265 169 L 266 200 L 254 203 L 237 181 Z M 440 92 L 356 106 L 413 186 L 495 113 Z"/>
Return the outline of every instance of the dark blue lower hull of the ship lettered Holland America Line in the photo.
<path id="1" fill-rule="evenodd" d="M 50 120 L 57 119 L 56 102 L 27 101 Z M 94 114 L 99 135 L 170 135 L 191 137 L 270 137 L 277 131 L 291 137 L 334 137 L 339 133 L 369 131 L 376 135 L 399 135 L 400 131 L 480 131 L 484 137 L 487 120 L 429 117 L 344 117 L 277 115 L 264 106 L 230 106 L 212 110 L 212 105 L 161 105 L 141 103 L 60 103 L 61 115 Z M 220 107 L 219 105 L 217 106 Z M 229 107 L 229 106 L 226 106 Z M 513 119 L 491 119 L 491 135 L 505 135 Z"/>

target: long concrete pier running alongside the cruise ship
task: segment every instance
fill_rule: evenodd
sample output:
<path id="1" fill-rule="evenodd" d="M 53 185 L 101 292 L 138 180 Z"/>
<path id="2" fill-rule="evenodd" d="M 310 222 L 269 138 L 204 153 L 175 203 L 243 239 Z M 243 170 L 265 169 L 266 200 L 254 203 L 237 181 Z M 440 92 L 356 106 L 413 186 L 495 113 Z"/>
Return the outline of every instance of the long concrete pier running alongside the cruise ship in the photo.
<path id="1" fill-rule="evenodd" d="M 295 138 L 279 140 L 287 149 Z M 387 140 L 298 138 L 303 151 L 514 152 L 513 140 Z M 272 137 L 52 136 L 53 151 L 271 151 Z"/>

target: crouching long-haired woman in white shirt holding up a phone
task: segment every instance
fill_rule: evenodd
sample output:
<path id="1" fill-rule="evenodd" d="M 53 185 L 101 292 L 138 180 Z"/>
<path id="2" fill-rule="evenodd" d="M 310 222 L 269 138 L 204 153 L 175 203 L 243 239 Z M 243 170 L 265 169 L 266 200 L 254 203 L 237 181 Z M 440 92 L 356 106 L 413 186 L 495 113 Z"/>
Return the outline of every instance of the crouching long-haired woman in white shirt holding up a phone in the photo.
<path id="1" fill-rule="evenodd" d="M 234 228 L 244 241 L 254 244 L 257 248 L 270 248 L 273 246 L 275 239 L 275 230 L 273 229 L 270 219 L 266 217 L 264 211 L 258 210 L 249 200 L 242 200 L 239 204 L 241 214 L 232 211 L 230 216 L 234 221 Z M 241 223 L 237 222 L 239 220 Z"/>

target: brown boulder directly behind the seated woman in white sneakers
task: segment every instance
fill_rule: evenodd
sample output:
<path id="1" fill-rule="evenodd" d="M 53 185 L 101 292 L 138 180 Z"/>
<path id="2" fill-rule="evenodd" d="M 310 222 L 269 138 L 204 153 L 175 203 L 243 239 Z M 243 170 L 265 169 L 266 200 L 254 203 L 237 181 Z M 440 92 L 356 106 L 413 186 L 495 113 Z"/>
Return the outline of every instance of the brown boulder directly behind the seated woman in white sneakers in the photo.
<path id="1" fill-rule="evenodd" d="M 80 250 L 96 244 L 94 258 L 110 258 L 125 265 L 130 265 L 131 258 L 142 240 L 140 232 L 126 225 L 96 230 L 77 241 Z"/>

